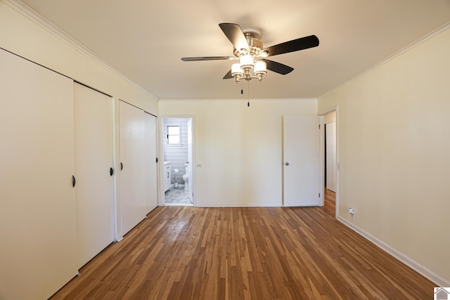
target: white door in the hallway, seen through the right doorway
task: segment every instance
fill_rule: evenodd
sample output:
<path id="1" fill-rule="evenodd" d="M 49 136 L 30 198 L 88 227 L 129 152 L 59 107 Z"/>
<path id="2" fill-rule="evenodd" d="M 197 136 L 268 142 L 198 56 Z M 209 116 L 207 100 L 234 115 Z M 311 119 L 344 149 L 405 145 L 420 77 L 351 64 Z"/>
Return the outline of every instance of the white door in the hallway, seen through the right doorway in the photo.
<path id="1" fill-rule="evenodd" d="M 336 191 L 336 122 L 326 124 L 326 188 Z"/>

